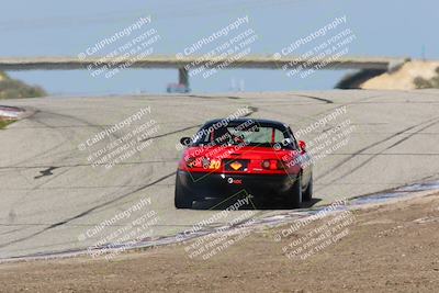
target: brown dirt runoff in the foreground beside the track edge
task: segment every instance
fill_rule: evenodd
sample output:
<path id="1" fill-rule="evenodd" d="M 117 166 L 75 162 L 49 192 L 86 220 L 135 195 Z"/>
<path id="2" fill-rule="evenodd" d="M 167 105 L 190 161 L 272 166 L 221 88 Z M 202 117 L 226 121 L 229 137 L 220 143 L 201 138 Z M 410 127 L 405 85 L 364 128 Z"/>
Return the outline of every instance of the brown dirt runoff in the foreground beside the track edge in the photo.
<path id="1" fill-rule="evenodd" d="M 190 258 L 191 241 L 110 261 L 79 257 L 3 263 L 0 291 L 439 291 L 439 194 L 305 224 L 251 233 L 206 260 Z"/>

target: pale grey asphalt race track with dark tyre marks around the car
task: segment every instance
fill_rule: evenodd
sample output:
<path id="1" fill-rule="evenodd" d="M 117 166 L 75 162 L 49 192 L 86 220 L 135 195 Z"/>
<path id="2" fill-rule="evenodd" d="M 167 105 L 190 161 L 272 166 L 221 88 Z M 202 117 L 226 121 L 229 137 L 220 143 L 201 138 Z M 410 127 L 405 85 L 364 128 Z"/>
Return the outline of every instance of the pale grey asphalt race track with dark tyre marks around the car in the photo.
<path id="1" fill-rule="evenodd" d="M 316 205 L 439 178 L 439 91 L 435 90 L 44 98 L 1 103 L 35 113 L 0 131 L 0 259 L 87 248 L 99 240 L 83 237 L 88 229 L 142 199 L 150 199 L 148 210 L 158 215 L 154 236 L 173 235 L 217 213 L 173 207 L 181 154 L 176 145 L 204 121 L 228 116 L 243 106 L 249 106 L 250 117 L 283 121 L 293 131 L 347 106 L 346 114 L 301 137 L 312 140 L 346 120 L 354 125 L 346 146 L 314 166 Z M 135 123 L 157 122 L 150 145 L 112 168 L 92 167 L 89 149 L 80 150 L 78 145 L 146 106 L 150 114 Z M 133 127 L 112 134 L 99 147 Z M 256 216 L 279 212 L 260 210 Z M 127 218 L 117 221 L 105 233 L 126 223 Z"/>

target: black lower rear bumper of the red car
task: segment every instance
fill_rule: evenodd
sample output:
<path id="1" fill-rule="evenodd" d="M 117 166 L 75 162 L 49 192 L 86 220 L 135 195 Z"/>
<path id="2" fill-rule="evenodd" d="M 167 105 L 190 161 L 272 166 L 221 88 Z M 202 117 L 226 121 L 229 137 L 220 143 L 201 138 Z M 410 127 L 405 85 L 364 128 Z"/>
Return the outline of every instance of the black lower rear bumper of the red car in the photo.
<path id="1" fill-rule="evenodd" d="M 199 173 L 178 170 L 178 181 L 195 200 L 227 199 L 251 194 L 259 199 L 284 198 L 290 194 L 296 174 Z"/>

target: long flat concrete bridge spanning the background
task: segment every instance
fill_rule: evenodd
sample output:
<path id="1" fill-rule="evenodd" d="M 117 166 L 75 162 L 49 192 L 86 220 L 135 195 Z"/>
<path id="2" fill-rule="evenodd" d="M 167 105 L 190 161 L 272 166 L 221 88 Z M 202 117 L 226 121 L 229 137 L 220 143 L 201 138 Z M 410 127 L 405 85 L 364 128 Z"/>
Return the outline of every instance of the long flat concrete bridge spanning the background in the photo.
<path id="1" fill-rule="evenodd" d="M 166 56 L 149 55 L 138 58 L 121 57 L 1 57 L 0 70 L 99 70 L 99 68 L 175 68 L 179 70 L 179 83 L 189 87 L 189 71 L 199 68 L 255 68 L 281 69 L 372 69 L 392 70 L 409 58 L 401 57 L 338 57 L 338 58 L 301 58 L 299 56 L 247 55 L 239 58 L 205 56 Z"/>

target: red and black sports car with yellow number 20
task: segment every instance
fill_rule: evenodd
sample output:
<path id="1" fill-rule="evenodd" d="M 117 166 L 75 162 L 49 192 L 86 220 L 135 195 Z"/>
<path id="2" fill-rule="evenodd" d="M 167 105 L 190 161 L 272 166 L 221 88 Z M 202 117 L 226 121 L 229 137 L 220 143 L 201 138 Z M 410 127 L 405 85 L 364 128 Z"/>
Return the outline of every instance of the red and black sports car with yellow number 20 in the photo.
<path id="1" fill-rule="evenodd" d="M 305 143 L 297 142 L 283 123 L 213 120 L 180 143 L 188 148 L 177 170 L 177 209 L 243 191 L 256 200 L 281 198 L 290 207 L 312 199 L 312 164 Z"/>

